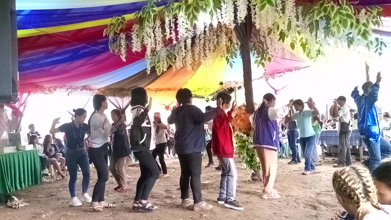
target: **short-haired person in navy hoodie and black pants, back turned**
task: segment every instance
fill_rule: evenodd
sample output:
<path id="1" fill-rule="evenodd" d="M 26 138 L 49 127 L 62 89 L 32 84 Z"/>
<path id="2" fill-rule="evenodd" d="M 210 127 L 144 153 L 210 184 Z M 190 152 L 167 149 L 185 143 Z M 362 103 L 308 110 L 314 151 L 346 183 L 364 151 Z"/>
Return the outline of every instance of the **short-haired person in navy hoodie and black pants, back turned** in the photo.
<path id="1" fill-rule="evenodd" d="M 204 123 L 212 120 L 221 110 L 221 99 L 217 100 L 217 108 L 203 113 L 192 105 L 193 94 L 188 88 L 181 88 L 176 93 L 179 106 L 173 108 L 167 119 L 169 124 L 175 124 L 175 151 L 181 165 L 182 207 L 194 204 L 194 211 L 210 210 L 212 205 L 203 202 L 201 195 L 202 154 L 206 147 Z M 189 184 L 193 199 L 189 197 Z"/>

